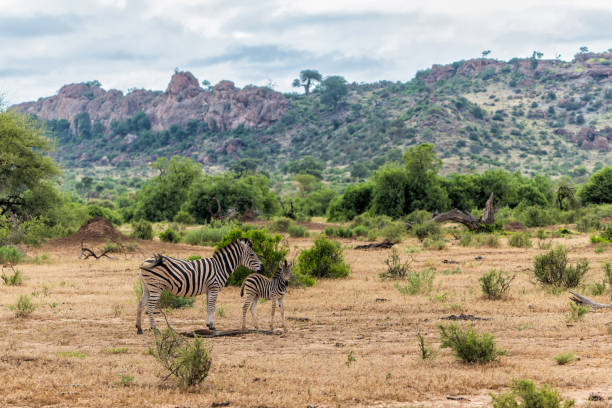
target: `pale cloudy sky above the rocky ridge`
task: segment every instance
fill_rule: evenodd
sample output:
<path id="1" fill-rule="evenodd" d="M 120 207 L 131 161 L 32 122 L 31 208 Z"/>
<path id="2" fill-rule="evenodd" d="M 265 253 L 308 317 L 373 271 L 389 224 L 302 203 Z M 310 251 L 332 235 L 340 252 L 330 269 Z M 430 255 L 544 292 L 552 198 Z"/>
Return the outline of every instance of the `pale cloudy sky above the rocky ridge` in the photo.
<path id="1" fill-rule="evenodd" d="M 612 2 L 0 0 L 0 44 L 5 105 L 94 79 L 165 90 L 175 68 L 290 92 L 303 69 L 405 82 L 483 50 L 501 60 L 605 51 Z"/>

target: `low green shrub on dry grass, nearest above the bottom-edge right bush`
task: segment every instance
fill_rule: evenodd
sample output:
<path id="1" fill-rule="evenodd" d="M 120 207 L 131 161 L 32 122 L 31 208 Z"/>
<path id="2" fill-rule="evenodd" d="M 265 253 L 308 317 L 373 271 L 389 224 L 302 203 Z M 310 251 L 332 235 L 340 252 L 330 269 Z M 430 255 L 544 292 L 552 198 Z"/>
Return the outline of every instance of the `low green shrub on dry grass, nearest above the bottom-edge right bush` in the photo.
<path id="1" fill-rule="evenodd" d="M 441 348 L 451 348 L 464 363 L 485 364 L 497 360 L 506 354 L 495 345 L 489 333 L 479 334 L 472 327 L 463 329 L 456 324 L 440 325 Z"/>

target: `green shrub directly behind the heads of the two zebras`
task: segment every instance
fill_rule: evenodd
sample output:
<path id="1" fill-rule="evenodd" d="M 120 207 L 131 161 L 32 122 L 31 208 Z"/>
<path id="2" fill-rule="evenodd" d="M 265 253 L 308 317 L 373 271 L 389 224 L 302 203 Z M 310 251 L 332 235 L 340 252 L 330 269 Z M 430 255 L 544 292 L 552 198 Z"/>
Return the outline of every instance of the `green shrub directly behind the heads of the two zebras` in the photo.
<path id="1" fill-rule="evenodd" d="M 237 239 L 246 238 L 253 243 L 253 251 L 263 263 L 263 274 L 272 277 L 280 262 L 285 259 L 289 249 L 282 243 L 283 237 L 280 234 L 269 234 L 265 229 L 253 229 L 245 231 L 241 228 L 234 228 L 223 236 L 217 243 L 216 249 L 221 249 Z M 240 286 L 244 279 L 252 273 L 250 269 L 239 266 L 227 280 L 228 285 Z"/>

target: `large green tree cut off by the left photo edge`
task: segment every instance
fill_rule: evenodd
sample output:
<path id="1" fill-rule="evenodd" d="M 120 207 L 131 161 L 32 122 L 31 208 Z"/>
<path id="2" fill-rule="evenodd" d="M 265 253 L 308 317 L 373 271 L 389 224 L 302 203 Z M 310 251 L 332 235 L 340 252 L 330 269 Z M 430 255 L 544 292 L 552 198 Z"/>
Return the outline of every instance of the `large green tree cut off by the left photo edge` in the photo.
<path id="1" fill-rule="evenodd" d="M 52 183 L 60 170 L 46 156 L 51 147 L 36 121 L 0 112 L 0 215 L 30 219 L 57 204 Z"/>

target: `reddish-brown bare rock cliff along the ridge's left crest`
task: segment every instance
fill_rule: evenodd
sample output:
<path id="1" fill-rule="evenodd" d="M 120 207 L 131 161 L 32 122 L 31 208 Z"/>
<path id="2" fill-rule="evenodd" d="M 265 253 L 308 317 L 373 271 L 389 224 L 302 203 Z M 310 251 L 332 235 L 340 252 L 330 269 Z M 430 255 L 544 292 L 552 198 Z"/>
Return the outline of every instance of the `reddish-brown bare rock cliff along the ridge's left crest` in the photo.
<path id="1" fill-rule="evenodd" d="M 165 92 L 135 90 L 123 95 L 115 89 L 105 91 L 80 83 L 63 86 L 57 95 L 11 107 L 40 119 L 67 119 L 71 126 L 75 116 L 87 112 L 92 122 L 100 121 L 107 129 L 113 120 L 121 121 L 142 111 L 155 131 L 192 119 L 204 120 L 220 130 L 240 126 L 261 129 L 280 119 L 288 108 L 281 93 L 267 88 L 237 89 L 233 82 L 221 81 L 204 90 L 190 72 L 175 73 Z"/>

